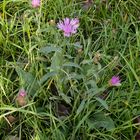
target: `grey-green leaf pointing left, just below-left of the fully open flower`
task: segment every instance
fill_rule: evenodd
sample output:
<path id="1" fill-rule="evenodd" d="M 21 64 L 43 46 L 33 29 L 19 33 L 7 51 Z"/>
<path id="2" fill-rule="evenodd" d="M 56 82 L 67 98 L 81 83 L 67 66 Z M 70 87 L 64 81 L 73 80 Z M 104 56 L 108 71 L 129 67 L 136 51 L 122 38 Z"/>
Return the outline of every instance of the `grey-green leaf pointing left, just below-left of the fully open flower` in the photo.
<path id="1" fill-rule="evenodd" d="M 40 53 L 44 54 L 44 55 L 47 55 L 48 53 L 51 53 L 51 52 L 61 52 L 61 48 L 57 48 L 57 47 L 42 47 L 40 48 L 39 50 Z"/>

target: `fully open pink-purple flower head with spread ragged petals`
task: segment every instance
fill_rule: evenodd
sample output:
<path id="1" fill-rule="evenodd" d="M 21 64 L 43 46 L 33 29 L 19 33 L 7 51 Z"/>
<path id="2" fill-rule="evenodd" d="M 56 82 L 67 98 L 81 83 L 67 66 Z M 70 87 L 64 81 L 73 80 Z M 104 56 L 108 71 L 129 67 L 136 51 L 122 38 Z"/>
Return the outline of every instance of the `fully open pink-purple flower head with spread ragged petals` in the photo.
<path id="1" fill-rule="evenodd" d="M 79 20 L 77 18 L 64 18 L 57 23 L 57 27 L 64 32 L 64 36 L 69 37 L 77 32 L 79 27 Z"/>

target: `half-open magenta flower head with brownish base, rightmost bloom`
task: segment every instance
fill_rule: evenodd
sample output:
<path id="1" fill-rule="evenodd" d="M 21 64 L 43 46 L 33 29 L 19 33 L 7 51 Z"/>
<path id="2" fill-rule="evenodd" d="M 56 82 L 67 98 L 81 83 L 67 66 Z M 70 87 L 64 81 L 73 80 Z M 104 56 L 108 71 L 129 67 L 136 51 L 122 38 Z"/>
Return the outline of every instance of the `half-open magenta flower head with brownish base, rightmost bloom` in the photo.
<path id="1" fill-rule="evenodd" d="M 119 76 L 113 76 L 110 80 L 109 80 L 109 85 L 110 86 L 120 86 L 121 85 L 121 80 Z"/>

